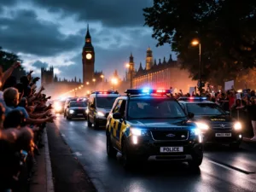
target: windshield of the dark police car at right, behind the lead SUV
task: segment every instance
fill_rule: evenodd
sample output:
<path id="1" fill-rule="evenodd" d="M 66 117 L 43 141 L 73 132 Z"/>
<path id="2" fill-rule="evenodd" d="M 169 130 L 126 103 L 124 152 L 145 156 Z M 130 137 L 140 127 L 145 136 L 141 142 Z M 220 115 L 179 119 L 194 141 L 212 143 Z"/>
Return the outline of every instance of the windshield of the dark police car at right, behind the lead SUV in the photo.
<path id="1" fill-rule="evenodd" d="M 187 103 L 188 112 L 195 115 L 221 115 L 224 110 L 216 103 Z"/>

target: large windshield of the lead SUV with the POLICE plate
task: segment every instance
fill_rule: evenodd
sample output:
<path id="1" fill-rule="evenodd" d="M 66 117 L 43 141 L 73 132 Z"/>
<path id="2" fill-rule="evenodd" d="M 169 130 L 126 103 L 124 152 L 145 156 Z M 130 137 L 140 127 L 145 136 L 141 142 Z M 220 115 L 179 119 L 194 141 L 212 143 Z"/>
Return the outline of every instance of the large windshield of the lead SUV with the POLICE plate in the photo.
<path id="1" fill-rule="evenodd" d="M 173 100 L 150 98 L 131 100 L 128 117 L 130 119 L 175 119 L 184 118 L 186 114 Z"/>

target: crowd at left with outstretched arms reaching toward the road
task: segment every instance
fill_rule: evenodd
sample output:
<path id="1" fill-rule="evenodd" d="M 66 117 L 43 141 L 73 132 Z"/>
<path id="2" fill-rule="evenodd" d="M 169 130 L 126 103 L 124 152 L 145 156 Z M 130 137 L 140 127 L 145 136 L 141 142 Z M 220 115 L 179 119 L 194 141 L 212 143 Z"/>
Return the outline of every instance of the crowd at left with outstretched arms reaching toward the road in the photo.
<path id="1" fill-rule="evenodd" d="M 12 76 L 20 62 L 5 72 L 0 68 L 0 191 L 26 191 L 44 148 L 42 136 L 47 122 L 53 122 L 50 96 L 37 92 L 39 78 L 32 71 L 16 79 Z"/>

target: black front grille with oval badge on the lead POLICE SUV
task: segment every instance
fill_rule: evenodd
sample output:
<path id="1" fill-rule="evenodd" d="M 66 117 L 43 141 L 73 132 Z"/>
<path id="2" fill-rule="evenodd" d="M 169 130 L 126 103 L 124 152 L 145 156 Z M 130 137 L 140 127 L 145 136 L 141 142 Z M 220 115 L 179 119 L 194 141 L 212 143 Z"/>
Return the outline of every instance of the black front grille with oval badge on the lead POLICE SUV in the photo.
<path id="1" fill-rule="evenodd" d="M 157 141 L 184 141 L 189 137 L 189 131 L 151 131 L 152 137 Z"/>

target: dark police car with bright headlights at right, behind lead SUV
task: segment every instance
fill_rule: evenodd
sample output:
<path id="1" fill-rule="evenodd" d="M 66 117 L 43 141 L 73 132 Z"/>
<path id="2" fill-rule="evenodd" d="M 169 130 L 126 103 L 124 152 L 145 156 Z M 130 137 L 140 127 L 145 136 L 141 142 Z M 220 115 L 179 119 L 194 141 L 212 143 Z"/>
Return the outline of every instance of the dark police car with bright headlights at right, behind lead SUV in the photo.
<path id="1" fill-rule="evenodd" d="M 230 144 L 239 148 L 242 141 L 241 122 L 233 119 L 218 104 L 207 97 L 181 97 L 179 103 L 186 113 L 194 113 L 193 120 L 201 129 L 204 143 Z"/>

